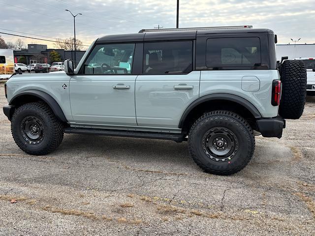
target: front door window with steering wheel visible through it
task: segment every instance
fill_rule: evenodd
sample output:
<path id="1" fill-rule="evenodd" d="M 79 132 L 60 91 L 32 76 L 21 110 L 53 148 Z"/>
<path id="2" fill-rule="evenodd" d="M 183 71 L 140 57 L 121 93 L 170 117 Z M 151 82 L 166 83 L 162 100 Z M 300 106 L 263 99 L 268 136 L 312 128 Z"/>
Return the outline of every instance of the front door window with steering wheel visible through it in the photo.
<path id="1" fill-rule="evenodd" d="M 134 43 L 96 45 L 84 64 L 84 74 L 131 74 Z"/>

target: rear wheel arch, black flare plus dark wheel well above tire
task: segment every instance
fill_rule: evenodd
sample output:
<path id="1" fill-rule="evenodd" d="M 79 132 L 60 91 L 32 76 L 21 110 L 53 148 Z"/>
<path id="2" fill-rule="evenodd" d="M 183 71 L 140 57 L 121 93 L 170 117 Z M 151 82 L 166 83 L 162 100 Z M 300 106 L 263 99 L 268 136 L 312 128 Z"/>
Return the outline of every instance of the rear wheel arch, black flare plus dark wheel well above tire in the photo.
<path id="1" fill-rule="evenodd" d="M 214 93 L 202 96 L 193 101 L 185 110 L 179 122 L 179 128 L 187 130 L 191 126 L 191 122 L 204 112 L 213 110 L 229 110 L 239 115 L 248 116 L 248 119 L 261 118 L 258 109 L 247 99 L 229 93 Z M 244 117 L 245 118 L 245 117 Z M 190 124 L 190 126 L 189 126 Z M 251 126 L 255 126 L 256 122 L 252 122 Z"/>

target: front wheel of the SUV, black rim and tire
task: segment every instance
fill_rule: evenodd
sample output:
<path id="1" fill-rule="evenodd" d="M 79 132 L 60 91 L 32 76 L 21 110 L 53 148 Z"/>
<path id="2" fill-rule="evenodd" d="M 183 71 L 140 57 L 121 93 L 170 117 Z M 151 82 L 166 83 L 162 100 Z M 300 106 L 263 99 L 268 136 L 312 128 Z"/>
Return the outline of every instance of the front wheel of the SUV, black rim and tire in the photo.
<path id="1" fill-rule="evenodd" d="M 42 102 L 27 103 L 13 114 L 11 132 L 15 143 L 28 154 L 44 155 L 63 140 L 63 123 Z"/>

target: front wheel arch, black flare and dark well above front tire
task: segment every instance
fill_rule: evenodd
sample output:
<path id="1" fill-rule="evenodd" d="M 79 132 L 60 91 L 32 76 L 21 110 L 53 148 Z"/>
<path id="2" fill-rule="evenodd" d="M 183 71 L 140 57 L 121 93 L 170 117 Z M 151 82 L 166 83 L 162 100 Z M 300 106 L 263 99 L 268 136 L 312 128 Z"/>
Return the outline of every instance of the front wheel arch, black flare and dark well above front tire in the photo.
<path id="1" fill-rule="evenodd" d="M 26 90 L 20 92 L 19 94 L 12 97 L 9 105 L 20 106 L 22 104 L 38 100 L 47 103 L 47 105 L 52 109 L 53 113 L 59 120 L 67 122 L 67 119 L 63 114 L 63 110 L 59 106 L 58 102 L 52 96 L 40 90 Z"/>

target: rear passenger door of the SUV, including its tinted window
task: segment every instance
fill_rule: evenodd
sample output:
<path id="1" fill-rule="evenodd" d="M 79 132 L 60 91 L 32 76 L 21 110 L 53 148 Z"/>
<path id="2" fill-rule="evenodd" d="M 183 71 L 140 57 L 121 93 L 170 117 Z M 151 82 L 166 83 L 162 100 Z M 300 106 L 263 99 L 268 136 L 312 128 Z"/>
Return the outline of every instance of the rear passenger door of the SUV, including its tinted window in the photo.
<path id="1" fill-rule="evenodd" d="M 199 97 L 193 51 L 193 40 L 144 42 L 143 74 L 135 85 L 139 126 L 178 128 L 185 109 Z"/>

